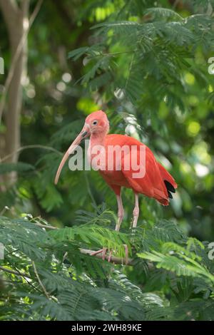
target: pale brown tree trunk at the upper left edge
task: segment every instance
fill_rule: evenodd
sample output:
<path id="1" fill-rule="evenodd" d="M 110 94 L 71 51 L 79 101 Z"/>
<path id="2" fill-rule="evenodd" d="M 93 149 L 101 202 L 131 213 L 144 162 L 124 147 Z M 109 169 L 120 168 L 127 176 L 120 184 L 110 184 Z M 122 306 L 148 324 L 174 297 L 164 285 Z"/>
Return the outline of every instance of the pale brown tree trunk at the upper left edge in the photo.
<path id="1" fill-rule="evenodd" d="M 9 31 L 11 46 L 11 66 L 14 71 L 11 76 L 8 91 L 8 103 L 5 113 L 6 135 L 4 155 L 11 155 L 7 163 L 16 163 L 18 160 L 17 150 L 20 147 L 20 115 L 22 106 L 21 79 L 26 71 L 27 38 L 24 36 L 28 28 L 29 0 L 21 0 L 21 6 L 14 0 L 0 0 L 0 7 L 4 14 L 6 26 Z M 21 47 L 21 48 L 20 48 Z M 19 56 L 17 51 L 20 48 Z M 9 176 L 9 183 L 16 180 L 13 172 Z"/>

